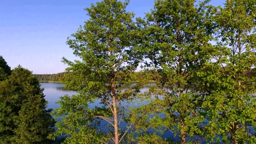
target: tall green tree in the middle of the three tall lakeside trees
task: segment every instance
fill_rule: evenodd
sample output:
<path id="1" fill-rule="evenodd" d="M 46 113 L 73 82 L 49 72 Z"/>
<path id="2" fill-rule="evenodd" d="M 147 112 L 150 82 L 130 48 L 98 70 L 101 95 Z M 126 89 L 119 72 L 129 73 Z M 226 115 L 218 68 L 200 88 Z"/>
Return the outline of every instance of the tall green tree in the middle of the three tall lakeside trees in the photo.
<path id="1" fill-rule="evenodd" d="M 209 42 L 213 39 L 215 8 L 207 4 L 209 1 L 155 0 L 154 9 L 146 14 L 146 21 L 137 20 L 141 23 L 141 47 L 144 47 L 139 52 L 150 59 L 146 65 L 156 69 L 158 84 L 150 89 L 147 98 L 151 101 L 133 110 L 135 114 L 141 113 L 131 115 L 132 121 L 140 121 L 135 125 L 141 128 L 138 131 L 146 131 L 148 127 L 160 134 L 171 131 L 176 143 L 181 144 L 202 141 L 206 118 L 200 106 L 206 95 L 198 92 L 203 86 L 197 85 L 197 71 L 210 60 L 214 51 Z M 156 96 L 151 98 L 151 94 Z M 155 116 L 148 121 L 145 114 Z M 155 134 L 138 138 L 146 142 L 166 142 Z"/>

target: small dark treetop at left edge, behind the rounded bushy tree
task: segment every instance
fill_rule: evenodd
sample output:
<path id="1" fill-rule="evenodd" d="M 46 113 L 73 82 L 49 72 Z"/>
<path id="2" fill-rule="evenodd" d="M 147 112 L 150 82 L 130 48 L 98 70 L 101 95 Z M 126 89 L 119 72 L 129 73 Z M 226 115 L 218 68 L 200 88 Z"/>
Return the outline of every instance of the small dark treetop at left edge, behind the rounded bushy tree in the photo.
<path id="1" fill-rule="evenodd" d="M 7 65 L 7 62 L 0 56 L 0 81 L 7 79 L 11 75 L 11 68 Z"/>

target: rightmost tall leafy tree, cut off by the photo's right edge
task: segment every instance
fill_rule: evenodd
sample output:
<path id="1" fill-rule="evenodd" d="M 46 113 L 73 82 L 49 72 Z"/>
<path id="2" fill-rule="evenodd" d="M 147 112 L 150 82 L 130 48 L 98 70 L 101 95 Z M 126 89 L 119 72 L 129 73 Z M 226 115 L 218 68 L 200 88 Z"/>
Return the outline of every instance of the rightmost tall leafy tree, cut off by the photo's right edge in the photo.
<path id="1" fill-rule="evenodd" d="M 255 70 L 256 0 L 226 0 L 214 20 L 216 50 L 210 65 L 215 72 L 210 81 L 210 96 L 203 104 L 209 116 L 209 129 L 226 144 L 256 142 Z M 205 73 L 198 73 L 205 76 Z"/>

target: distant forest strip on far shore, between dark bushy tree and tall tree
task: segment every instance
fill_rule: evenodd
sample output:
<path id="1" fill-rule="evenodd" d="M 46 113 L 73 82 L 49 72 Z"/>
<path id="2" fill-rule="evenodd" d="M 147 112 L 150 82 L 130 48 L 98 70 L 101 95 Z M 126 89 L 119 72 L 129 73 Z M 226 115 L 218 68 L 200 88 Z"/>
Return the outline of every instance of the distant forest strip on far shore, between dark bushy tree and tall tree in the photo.
<path id="1" fill-rule="evenodd" d="M 60 78 L 64 76 L 68 72 L 59 72 L 57 74 L 33 74 L 39 81 L 54 81 L 60 82 Z"/>

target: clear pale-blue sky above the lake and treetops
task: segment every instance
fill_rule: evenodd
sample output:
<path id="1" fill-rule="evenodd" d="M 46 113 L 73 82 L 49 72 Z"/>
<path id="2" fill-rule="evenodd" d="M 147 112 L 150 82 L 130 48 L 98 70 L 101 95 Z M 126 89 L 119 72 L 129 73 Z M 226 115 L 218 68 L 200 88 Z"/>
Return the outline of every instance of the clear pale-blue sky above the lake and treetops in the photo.
<path id="1" fill-rule="evenodd" d="M 96 1 L 0 0 L 0 55 L 12 69 L 20 64 L 34 74 L 63 72 L 63 56 L 77 59 L 66 39 L 88 19 L 84 8 Z M 127 10 L 144 17 L 153 6 L 154 0 L 131 0 Z"/>

